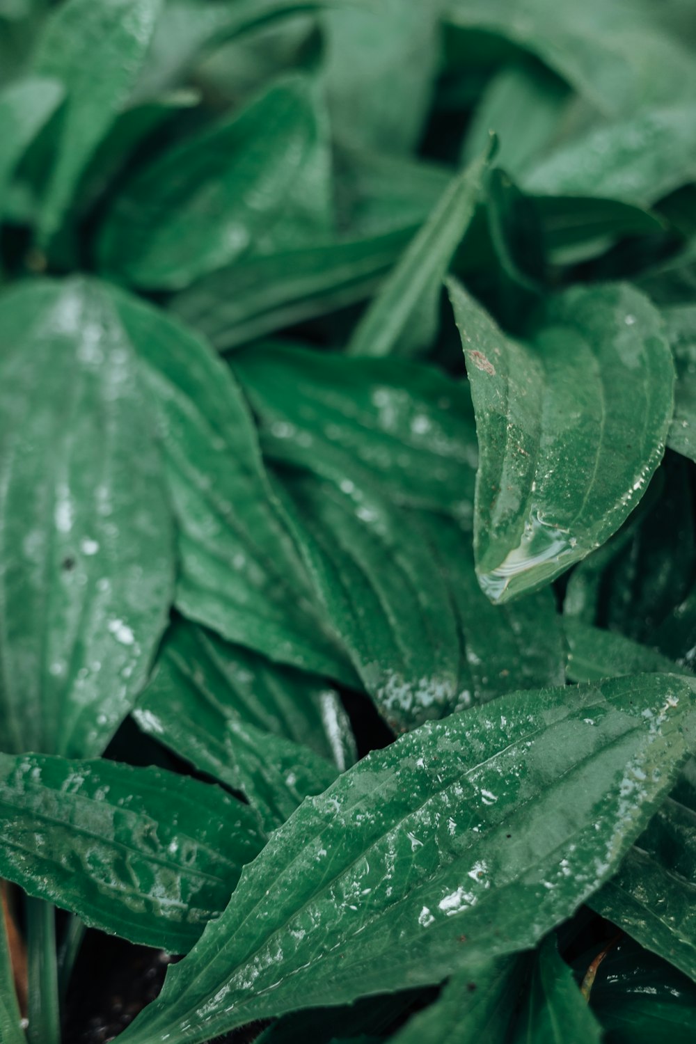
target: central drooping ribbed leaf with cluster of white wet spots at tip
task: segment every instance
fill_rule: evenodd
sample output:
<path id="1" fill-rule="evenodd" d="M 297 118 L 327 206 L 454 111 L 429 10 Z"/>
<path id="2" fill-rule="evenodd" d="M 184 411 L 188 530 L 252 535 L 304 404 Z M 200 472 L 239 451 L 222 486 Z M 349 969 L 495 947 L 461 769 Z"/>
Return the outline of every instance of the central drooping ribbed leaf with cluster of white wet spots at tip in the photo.
<path id="1" fill-rule="evenodd" d="M 432 551 L 377 490 L 294 469 L 277 490 L 297 546 L 356 671 L 397 730 L 457 705 L 457 625 Z"/>

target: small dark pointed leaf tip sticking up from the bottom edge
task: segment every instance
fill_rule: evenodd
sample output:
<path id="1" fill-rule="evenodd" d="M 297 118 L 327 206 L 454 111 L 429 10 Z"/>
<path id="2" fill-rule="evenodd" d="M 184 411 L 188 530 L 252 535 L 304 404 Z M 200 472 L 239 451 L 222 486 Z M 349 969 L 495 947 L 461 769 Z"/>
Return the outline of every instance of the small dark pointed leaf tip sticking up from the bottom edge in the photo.
<path id="1" fill-rule="evenodd" d="M 549 935 L 536 953 L 513 1044 L 600 1044 L 602 1031 Z"/>

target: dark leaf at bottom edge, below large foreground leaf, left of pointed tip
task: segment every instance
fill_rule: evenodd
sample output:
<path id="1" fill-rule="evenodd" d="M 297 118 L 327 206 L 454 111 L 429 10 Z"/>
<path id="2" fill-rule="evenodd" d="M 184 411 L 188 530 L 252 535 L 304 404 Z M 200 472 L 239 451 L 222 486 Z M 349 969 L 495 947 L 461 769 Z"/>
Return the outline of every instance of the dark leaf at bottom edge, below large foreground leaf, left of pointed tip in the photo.
<path id="1" fill-rule="evenodd" d="M 438 999 L 414 1015 L 390 1044 L 504 1044 L 526 959 L 501 957 L 452 976 Z"/>

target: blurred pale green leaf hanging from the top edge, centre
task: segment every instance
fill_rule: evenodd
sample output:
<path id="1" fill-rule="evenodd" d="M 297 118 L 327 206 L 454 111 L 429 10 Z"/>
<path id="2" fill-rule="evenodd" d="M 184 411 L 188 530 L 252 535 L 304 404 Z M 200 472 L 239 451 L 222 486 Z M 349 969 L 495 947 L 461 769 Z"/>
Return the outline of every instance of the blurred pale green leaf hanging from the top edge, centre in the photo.
<path id="1" fill-rule="evenodd" d="M 327 7 L 322 78 L 338 140 L 387 153 L 413 151 L 437 75 L 437 5 L 380 0 Z"/>

